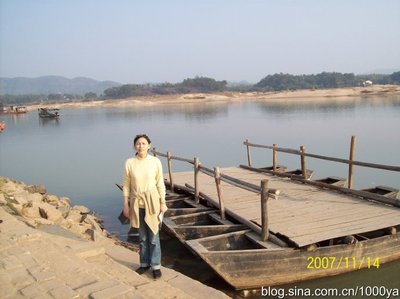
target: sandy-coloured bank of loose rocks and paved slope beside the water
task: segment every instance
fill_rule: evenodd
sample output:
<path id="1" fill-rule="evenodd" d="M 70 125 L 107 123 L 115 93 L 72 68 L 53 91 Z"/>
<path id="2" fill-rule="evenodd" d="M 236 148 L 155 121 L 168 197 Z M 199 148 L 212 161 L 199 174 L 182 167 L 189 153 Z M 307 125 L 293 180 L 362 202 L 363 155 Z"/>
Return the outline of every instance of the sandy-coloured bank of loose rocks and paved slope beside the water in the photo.
<path id="1" fill-rule="evenodd" d="M 0 298 L 228 298 L 174 270 L 138 275 L 138 254 L 44 186 L 0 177 Z"/>

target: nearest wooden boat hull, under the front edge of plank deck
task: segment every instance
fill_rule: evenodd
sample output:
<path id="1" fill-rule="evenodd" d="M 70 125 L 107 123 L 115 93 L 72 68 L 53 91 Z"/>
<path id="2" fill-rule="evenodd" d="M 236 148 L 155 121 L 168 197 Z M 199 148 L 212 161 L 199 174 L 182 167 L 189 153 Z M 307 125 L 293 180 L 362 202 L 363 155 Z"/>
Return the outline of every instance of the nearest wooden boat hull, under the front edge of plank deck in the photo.
<path id="1" fill-rule="evenodd" d="M 252 289 L 379 268 L 381 263 L 400 258 L 400 233 L 375 233 L 377 237 L 356 236 L 352 244 L 345 244 L 343 238 L 315 248 L 284 248 L 262 242 L 251 230 L 186 243 L 232 287 Z"/>

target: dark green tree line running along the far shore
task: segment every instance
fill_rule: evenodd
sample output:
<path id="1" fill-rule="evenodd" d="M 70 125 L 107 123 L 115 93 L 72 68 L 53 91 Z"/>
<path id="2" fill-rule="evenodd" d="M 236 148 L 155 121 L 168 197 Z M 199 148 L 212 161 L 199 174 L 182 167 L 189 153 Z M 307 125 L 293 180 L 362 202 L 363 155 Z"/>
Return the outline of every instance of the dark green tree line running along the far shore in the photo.
<path id="1" fill-rule="evenodd" d="M 68 100 L 121 99 L 135 96 L 172 95 L 186 93 L 211 93 L 223 91 L 282 91 L 296 89 L 319 89 L 361 86 L 370 80 L 374 84 L 400 84 L 400 71 L 391 75 L 322 72 L 312 75 L 273 74 L 256 84 L 229 86 L 226 80 L 217 81 L 208 77 L 195 77 L 180 83 L 161 84 L 125 84 L 104 90 L 102 95 L 88 92 L 85 95 L 49 94 L 49 95 L 0 95 L 3 104 L 22 104 L 31 102 L 57 102 Z"/>

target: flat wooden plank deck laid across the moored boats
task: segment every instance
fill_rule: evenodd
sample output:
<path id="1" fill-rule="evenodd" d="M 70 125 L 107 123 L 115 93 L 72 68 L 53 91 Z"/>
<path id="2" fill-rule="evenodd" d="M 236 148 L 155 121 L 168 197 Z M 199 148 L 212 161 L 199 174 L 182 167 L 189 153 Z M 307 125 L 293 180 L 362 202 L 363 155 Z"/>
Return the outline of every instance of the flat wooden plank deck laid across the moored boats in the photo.
<path id="1" fill-rule="evenodd" d="M 255 173 L 239 167 L 221 168 L 226 174 L 251 184 L 268 179 L 268 187 L 281 191 L 268 201 L 269 230 L 288 237 L 298 246 L 333 238 L 361 234 L 400 224 L 400 210 L 287 178 Z M 178 185 L 193 185 L 193 172 L 174 173 Z M 204 173 L 198 177 L 199 189 L 218 205 L 215 180 Z M 227 211 L 261 226 L 260 195 L 221 181 Z"/>

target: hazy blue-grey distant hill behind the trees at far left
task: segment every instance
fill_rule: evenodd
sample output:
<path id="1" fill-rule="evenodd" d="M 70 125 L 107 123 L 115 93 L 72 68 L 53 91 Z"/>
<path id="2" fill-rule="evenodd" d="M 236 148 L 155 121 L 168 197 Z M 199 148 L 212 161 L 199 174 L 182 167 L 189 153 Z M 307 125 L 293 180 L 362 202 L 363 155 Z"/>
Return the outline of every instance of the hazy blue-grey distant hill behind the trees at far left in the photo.
<path id="1" fill-rule="evenodd" d="M 105 89 L 121 86 L 113 81 L 97 81 L 85 77 L 68 79 L 61 76 L 44 76 L 38 78 L 0 78 L 0 94 L 52 94 L 69 93 L 84 95 L 95 92 L 100 95 Z"/>

